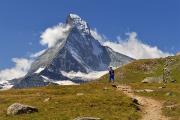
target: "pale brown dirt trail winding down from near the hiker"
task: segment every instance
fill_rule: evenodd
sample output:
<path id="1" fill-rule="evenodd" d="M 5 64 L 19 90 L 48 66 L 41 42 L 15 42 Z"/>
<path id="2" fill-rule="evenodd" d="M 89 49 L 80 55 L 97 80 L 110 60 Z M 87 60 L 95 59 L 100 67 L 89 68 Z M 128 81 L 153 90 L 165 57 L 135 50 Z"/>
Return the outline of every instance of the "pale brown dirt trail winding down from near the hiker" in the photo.
<path id="1" fill-rule="evenodd" d="M 162 103 L 148 97 L 135 95 L 130 86 L 118 85 L 118 90 L 123 91 L 127 96 L 135 98 L 142 105 L 143 116 L 141 120 L 169 120 L 162 115 Z"/>

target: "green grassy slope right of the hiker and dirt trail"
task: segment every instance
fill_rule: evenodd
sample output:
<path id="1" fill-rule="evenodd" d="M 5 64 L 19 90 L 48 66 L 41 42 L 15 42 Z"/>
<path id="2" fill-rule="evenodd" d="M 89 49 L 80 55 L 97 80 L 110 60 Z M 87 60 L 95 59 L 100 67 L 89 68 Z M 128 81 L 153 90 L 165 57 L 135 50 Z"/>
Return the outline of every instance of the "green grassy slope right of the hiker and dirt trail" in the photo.
<path id="1" fill-rule="evenodd" d="M 176 79 L 176 83 L 168 82 L 167 84 L 159 83 L 141 83 L 146 77 L 159 77 L 163 74 L 163 68 L 166 61 L 170 60 L 168 69 L 172 79 Z M 115 71 L 116 81 L 121 84 L 129 84 L 135 90 L 152 89 L 155 92 L 137 93 L 143 96 L 149 96 L 164 102 L 163 112 L 166 116 L 172 117 L 174 120 L 180 119 L 180 56 L 173 56 L 160 59 L 146 59 L 134 61 Z M 121 75 L 121 77 L 120 77 Z M 108 81 L 108 76 L 103 76 L 100 81 Z M 159 89 L 159 87 L 165 88 Z M 172 95 L 166 95 L 170 92 Z M 173 109 L 165 108 L 165 106 L 177 105 Z"/>

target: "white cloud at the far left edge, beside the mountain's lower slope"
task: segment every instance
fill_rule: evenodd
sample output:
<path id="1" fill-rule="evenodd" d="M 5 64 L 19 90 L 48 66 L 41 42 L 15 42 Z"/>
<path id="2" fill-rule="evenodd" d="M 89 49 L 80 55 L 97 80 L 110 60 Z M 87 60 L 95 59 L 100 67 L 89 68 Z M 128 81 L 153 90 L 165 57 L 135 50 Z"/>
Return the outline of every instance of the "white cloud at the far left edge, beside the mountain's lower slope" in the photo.
<path id="1" fill-rule="evenodd" d="M 0 71 L 0 82 L 5 82 L 14 78 L 20 78 L 26 75 L 30 69 L 31 60 L 24 58 L 13 58 L 12 61 L 15 63 L 15 66 L 12 68 L 7 68 Z"/>

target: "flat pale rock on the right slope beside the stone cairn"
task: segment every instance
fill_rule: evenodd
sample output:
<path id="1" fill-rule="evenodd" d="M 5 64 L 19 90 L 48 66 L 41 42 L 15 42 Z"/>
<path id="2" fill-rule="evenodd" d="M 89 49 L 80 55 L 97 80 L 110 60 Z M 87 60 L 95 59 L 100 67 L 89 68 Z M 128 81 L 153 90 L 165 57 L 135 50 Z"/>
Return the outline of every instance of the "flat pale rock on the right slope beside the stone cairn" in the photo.
<path id="1" fill-rule="evenodd" d="M 162 81 L 163 81 L 163 78 L 162 76 L 160 76 L 160 77 L 147 77 L 141 82 L 142 83 L 162 83 Z"/>

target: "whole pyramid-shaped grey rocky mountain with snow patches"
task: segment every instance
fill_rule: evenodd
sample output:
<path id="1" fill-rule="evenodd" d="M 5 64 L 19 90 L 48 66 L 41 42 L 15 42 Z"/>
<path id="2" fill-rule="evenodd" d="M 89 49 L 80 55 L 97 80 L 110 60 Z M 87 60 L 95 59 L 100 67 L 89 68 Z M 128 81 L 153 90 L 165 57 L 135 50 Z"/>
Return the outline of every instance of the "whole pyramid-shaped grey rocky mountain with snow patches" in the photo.
<path id="1" fill-rule="evenodd" d="M 13 80 L 15 88 L 45 86 L 52 82 L 63 84 L 64 81 L 81 83 L 105 74 L 109 66 L 118 67 L 133 60 L 102 46 L 91 35 L 88 23 L 78 15 L 68 15 L 66 25 L 70 26 L 67 37 L 39 56 L 25 77 Z"/>

